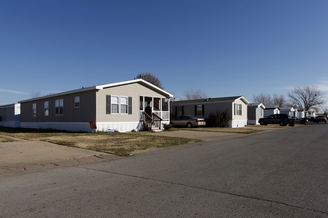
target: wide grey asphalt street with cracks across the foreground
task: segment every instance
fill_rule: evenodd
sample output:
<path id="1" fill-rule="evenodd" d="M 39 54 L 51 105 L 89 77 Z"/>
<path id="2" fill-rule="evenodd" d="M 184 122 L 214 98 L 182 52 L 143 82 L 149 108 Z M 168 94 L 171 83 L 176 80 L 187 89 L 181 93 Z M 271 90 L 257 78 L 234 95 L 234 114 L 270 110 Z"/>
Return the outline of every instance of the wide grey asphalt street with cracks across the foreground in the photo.
<path id="1" fill-rule="evenodd" d="M 0 174 L 0 217 L 328 217 L 328 125 Z"/>

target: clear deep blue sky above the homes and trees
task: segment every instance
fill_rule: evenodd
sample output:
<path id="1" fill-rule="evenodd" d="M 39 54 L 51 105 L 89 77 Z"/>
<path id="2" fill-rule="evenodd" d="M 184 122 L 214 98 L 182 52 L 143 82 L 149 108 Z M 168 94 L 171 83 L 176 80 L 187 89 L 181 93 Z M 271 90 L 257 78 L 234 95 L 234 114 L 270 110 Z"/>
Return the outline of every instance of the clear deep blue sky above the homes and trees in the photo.
<path id="1" fill-rule="evenodd" d="M 328 93 L 327 11 L 326 0 L 0 1 L 0 105 L 143 72 L 177 99 Z"/>

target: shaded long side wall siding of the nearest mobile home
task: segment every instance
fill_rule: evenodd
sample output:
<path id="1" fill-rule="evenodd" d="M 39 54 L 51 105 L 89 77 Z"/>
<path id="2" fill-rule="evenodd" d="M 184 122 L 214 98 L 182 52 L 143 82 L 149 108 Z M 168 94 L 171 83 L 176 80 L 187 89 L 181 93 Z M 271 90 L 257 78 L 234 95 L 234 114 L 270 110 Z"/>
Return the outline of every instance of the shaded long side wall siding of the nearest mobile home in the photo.
<path id="1" fill-rule="evenodd" d="M 80 107 L 75 108 L 74 98 L 80 97 Z M 55 100 L 64 99 L 64 115 L 55 115 Z M 49 115 L 44 116 L 44 102 L 48 102 Z M 32 116 L 32 105 L 36 103 L 36 117 Z M 88 122 L 95 121 L 95 91 L 57 96 L 21 103 L 22 122 Z"/>

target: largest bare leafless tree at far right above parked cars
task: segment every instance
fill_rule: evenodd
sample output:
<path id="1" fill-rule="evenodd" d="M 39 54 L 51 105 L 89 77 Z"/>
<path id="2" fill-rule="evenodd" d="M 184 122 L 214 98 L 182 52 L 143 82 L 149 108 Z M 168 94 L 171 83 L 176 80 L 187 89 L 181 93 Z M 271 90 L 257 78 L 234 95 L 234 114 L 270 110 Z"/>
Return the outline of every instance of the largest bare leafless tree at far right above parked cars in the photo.
<path id="1" fill-rule="evenodd" d="M 296 86 L 288 97 L 292 104 L 297 105 L 301 110 L 317 109 L 324 102 L 324 93 L 316 85 Z"/>

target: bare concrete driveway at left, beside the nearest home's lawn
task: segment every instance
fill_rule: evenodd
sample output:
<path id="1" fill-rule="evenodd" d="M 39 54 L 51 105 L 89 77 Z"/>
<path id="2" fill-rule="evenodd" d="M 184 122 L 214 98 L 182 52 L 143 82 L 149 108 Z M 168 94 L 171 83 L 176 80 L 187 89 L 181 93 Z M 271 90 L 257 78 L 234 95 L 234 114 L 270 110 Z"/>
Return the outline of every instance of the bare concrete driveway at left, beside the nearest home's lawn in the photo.
<path id="1" fill-rule="evenodd" d="M 69 166 L 120 158 L 114 154 L 43 141 L 12 139 L 17 142 L 0 143 L 0 173 Z"/>

